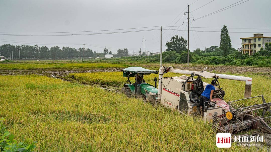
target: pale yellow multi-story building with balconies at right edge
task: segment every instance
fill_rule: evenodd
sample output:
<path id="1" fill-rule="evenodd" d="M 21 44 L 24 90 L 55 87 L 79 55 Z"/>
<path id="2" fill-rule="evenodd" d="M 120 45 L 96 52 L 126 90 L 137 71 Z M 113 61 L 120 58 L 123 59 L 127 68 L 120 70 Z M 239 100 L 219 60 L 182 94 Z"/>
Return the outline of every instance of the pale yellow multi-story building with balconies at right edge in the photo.
<path id="1" fill-rule="evenodd" d="M 240 39 L 242 39 L 242 47 L 239 51 L 242 52 L 242 54 L 248 53 L 249 55 L 252 55 L 253 53 L 260 51 L 261 48 L 264 48 L 265 43 L 270 43 L 271 37 L 264 37 L 263 34 L 256 33 L 253 34 L 253 37 Z"/>

